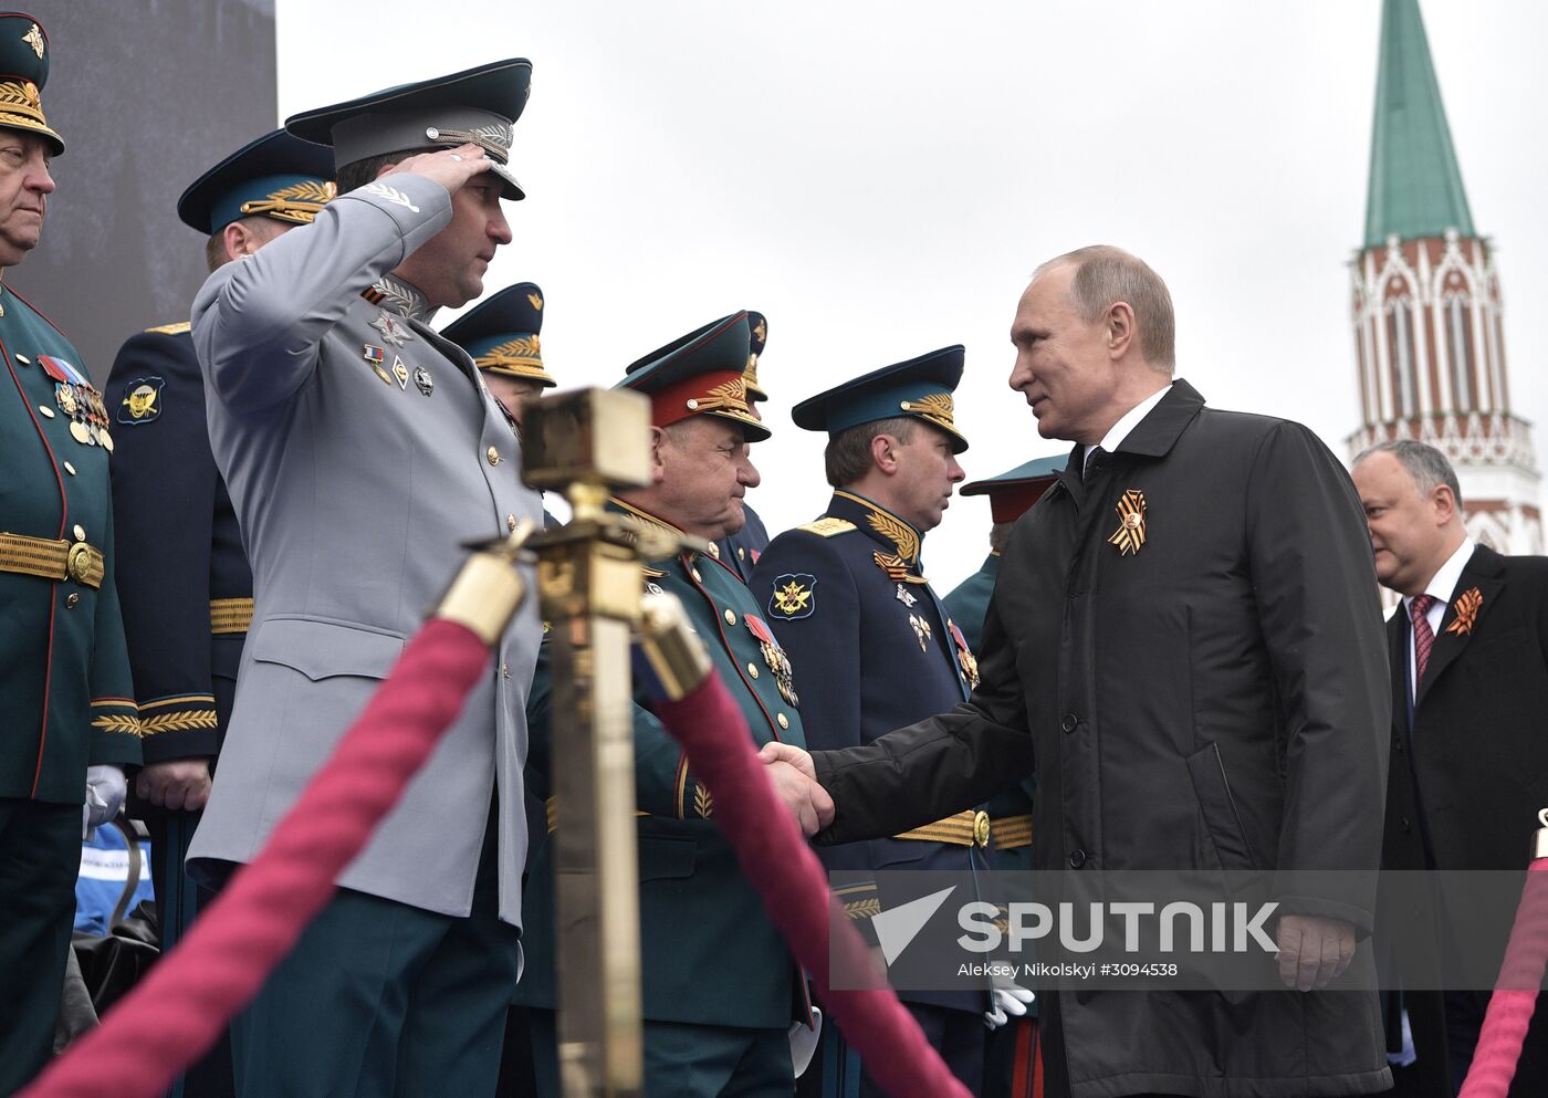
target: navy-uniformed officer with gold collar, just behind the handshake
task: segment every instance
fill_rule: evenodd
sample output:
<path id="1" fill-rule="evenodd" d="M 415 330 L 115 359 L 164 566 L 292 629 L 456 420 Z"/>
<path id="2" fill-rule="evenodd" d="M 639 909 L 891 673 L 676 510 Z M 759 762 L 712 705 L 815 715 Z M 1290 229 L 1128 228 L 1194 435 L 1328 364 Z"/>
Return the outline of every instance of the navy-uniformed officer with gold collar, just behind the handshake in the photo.
<path id="1" fill-rule="evenodd" d="M 946 347 L 817 393 L 794 409 L 797 427 L 828 432 L 833 499 L 816 522 L 776 537 L 752 571 L 752 596 L 789 652 L 814 748 L 867 743 L 950 709 L 977 685 L 977 663 L 924 578 L 924 534 L 941 522 L 968 449 L 952 393 L 963 348 Z M 845 903 L 856 918 L 881 903 L 867 877 L 882 869 L 983 867 L 991 841 L 980 811 L 961 811 L 890 839 L 820 849 L 834 870 L 862 870 Z M 983 1072 L 980 991 L 902 991 L 930 1044 L 974 1092 Z M 850 1093 L 828 1035 L 824 1086 Z M 879 1093 L 868 1073 L 861 1093 Z"/>

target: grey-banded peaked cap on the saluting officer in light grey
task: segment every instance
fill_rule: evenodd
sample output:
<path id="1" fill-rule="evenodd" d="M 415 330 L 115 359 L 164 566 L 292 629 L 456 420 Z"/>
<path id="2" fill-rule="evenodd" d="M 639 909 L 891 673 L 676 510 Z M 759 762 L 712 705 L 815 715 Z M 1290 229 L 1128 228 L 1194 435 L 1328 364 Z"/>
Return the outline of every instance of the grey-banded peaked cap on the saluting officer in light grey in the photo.
<path id="1" fill-rule="evenodd" d="M 285 119 L 297 138 L 333 146 L 334 164 L 406 149 L 455 149 L 472 141 L 505 180 L 505 198 L 526 192 L 511 175 L 511 130 L 526 107 L 533 62 L 495 60 L 450 76 L 399 84 Z"/>

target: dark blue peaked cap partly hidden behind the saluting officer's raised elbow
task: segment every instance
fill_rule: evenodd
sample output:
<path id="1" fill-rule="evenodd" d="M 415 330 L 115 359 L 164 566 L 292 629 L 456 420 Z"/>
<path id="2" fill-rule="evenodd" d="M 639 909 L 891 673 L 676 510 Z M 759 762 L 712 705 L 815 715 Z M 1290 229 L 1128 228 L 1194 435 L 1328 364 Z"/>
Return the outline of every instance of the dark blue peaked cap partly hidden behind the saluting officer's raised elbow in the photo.
<path id="1" fill-rule="evenodd" d="M 243 217 L 311 225 L 333 190 L 333 153 L 274 130 L 194 180 L 178 198 L 178 217 L 204 235 Z"/>

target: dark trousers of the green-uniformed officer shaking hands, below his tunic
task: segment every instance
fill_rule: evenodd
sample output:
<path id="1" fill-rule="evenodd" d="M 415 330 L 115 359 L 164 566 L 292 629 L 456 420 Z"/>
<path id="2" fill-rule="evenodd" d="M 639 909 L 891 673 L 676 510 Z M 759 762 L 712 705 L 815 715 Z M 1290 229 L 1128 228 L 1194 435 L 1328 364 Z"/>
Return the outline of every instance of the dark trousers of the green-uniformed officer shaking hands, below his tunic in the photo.
<path id="1" fill-rule="evenodd" d="M 540 1098 L 560 1098 L 557 1017 L 533 1010 Z M 789 1098 L 796 1089 L 785 1030 L 644 1024 L 646 1098 Z"/>

